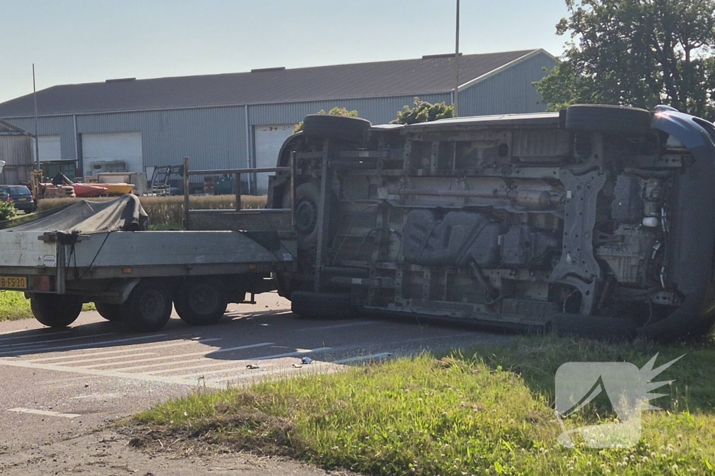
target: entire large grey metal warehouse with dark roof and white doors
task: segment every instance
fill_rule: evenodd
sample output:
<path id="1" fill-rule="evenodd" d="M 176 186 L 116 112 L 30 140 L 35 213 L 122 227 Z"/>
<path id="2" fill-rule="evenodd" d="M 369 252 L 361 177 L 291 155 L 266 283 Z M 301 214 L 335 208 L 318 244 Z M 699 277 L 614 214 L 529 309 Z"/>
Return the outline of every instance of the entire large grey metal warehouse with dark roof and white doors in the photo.
<path id="1" fill-rule="evenodd" d="M 543 49 L 460 56 L 460 116 L 545 110 L 534 81 L 556 60 Z M 275 165 L 295 123 L 333 107 L 373 123 L 415 97 L 453 102 L 453 55 L 162 79 L 115 79 L 37 93 L 41 161 L 76 161 L 84 176 L 124 161 L 129 171 L 180 163 L 215 169 Z M 0 118 L 34 130 L 32 96 L 0 104 Z M 265 192 L 265 178 L 250 190 Z"/>

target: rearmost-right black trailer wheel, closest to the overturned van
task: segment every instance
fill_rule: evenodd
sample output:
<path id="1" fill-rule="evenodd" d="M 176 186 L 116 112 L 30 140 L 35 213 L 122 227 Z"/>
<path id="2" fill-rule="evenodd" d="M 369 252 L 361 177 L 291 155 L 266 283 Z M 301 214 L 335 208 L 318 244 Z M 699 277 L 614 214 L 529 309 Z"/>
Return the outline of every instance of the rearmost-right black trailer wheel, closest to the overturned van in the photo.
<path id="1" fill-rule="evenodd" d="M 226 290 L 215 279 L 187 278 L 174 297 L 174 309 L 179 318 L 190 325 L 217 323 L 226 313 L 227 306 Z"/>

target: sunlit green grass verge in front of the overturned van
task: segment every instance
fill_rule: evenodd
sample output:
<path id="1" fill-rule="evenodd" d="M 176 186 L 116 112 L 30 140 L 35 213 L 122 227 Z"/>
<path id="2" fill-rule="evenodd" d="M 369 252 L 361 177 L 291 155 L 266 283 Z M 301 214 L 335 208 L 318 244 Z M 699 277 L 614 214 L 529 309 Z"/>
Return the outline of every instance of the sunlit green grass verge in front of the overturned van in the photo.
<path id="1" fill-rule="evenodd" d="M 137 415 L 135 445 L 212 445 L 287 455 L 370 475 L 715 474 L 715 343 L 611 345 L 535 336 L 441 359 L 431 355 L 345 373 L 197 393 Z M 553 375 L 561 363 L 686 354 L 644 412 L 636 447 L 597 450 L 556 442 Z M 573 425 L 613 421 L 606 407 Z M 146 436 L 148 435 L 148 436 Z M 167 442 L 173 442 L 167 445 Z M 157 447 L 159 445 L 157 444 Z"/>

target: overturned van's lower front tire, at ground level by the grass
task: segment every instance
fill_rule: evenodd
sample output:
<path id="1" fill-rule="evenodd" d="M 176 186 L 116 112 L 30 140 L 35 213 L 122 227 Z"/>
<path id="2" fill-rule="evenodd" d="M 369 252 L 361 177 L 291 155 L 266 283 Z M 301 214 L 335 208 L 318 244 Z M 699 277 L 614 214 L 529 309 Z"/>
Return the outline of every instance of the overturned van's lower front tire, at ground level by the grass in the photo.
<path id="1" fill-rule="evenodd" d="M 560 336 L 614 341 L 633 340 L 638 332 L 632 319 L 568 313 L 553 315 L 551 327 Z"/>

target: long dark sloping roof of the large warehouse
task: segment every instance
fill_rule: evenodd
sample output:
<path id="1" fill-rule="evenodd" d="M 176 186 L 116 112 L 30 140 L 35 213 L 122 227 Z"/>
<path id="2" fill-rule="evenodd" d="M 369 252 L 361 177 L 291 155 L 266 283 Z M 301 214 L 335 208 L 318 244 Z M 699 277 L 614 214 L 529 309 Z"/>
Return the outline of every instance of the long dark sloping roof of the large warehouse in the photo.
<path id="1" fill-rule="evenodd" d="M 460 56 L 460 83 L 488 75 L 543 50 Z M 445 93 L 454 88 L 452 57 L 342 64 L 249 73 L 117 79 L 52 86 L 37 93 L 39 115 L 284 103 Z M 31 116 L 32 95 L 0 104 L 0 117 Z"/>

